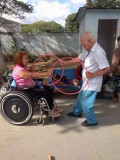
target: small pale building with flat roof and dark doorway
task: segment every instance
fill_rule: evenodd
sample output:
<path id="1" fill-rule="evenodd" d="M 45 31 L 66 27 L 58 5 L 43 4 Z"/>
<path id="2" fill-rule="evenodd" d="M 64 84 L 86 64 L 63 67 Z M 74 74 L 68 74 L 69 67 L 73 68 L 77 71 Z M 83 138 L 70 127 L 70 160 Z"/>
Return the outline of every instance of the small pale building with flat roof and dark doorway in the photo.
<path id="1" fill-rule="evenodd" d="M 120 35 L 120 9 L 80 8 L 75 20 L 79 21 L 79 36 L 85 31 L 93 32 L 111 62 L 116 39 Z"/>

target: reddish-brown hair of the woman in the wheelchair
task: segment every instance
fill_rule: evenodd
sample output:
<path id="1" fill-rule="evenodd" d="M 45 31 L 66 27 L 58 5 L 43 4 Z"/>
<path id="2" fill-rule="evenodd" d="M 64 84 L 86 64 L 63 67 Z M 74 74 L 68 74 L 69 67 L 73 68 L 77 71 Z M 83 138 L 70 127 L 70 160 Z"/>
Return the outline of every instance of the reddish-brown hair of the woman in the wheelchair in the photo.
<path id="1" fill-rule="evenodd" d="M 19 64 L 20 66 L 23 66 L 22 64 L 22 58 L 25 56 L 25 55 L 28 55 L 28 52 L 26 51 L 18 51 L 15 55 L 15 58 L 14 58 L 14 64 Z"/>

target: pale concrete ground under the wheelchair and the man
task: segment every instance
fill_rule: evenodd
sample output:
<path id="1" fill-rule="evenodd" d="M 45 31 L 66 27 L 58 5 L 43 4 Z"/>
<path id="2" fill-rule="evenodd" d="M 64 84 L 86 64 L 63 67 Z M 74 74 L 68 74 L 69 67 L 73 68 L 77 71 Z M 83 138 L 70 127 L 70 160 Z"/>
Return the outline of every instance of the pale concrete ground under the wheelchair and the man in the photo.
<path id="1" fill-rule="evenodd" d="M 64 98 L 63 98 L 64 97 Z M 99 125 L 83 127 L 83 118 L 70 118 L 76 96 L 56 97 L 64 108 L 55 122 L 40 126 L 32 120 L 23 126 L 7 123 L 0 116 L 0 160 L 119 160 L 120 103 L 96 100 Z"/>

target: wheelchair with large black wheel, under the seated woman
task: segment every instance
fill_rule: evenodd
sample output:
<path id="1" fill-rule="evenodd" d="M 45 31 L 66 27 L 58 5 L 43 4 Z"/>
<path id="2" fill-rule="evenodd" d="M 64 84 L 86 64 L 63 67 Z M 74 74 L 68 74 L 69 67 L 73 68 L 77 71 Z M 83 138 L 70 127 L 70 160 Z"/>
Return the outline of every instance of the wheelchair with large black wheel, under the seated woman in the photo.
<path id="1" fill-rule="evenodd" d="M 30 95 L 27 89 L 17 88 L 11 85 L 13 81 L 3 85 L 0 89 L 0 109 L 2 117 L 9 123 L 14 125 L 23 125 L 30 121 L 36 109 L 39 110 L 39 117 L 36 118 L 36 123 L 43 125 L 45 120 L 44 115 L 48 116 L 50 111 L 49 105 L 44 98 Z M 34 88 L 31 88 L 34 93 Z M 54 101 L 55 103 L 55 101 Z M 56 105 L 56 103 L 55 103 Z M 52 120 L 54 121 L 54 117 Z"/>

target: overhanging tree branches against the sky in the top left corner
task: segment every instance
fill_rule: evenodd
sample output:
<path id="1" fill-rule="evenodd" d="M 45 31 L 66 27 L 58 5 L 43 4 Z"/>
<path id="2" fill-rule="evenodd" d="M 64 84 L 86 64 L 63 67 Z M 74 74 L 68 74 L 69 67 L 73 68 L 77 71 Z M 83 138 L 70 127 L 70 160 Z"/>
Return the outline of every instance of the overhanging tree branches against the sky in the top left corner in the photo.
<path id="1" fill-rule="evenodd" d="M 17 18 L 24 19 L 23 13 L 32 13 L 33 6 L 18 0 L 0 0 L 0 13 L 15 15 Z"/>

